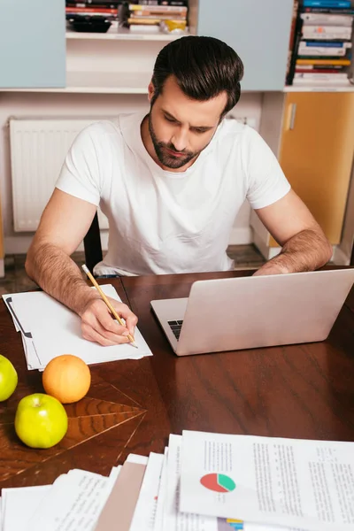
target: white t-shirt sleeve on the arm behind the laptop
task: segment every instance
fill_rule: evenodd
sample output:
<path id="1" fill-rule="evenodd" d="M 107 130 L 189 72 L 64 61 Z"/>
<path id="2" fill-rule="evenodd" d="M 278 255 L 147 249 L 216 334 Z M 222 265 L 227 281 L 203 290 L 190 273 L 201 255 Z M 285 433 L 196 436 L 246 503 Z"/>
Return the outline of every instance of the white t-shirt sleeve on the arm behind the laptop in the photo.
<path id="1" fill-rule="evenodd" d="M 247 198 L 253 209 L 264 208 L 288 194 L 289 181 L 277 158 L 254 129 L 249 131 L 246 156 L 243 160 L 248 175 Z"/>

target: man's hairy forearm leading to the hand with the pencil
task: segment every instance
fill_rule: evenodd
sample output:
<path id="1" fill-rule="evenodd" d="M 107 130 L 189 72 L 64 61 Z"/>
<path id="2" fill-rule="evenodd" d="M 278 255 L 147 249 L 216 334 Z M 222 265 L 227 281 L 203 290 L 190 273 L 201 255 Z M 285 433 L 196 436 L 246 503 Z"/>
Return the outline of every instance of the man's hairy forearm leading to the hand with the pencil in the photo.
<path id="1" fill-rule="evenodd" d="M 72 258 L 50 243 L 38 244 L 28 251 L 26 271 L 50 296 L 79 315 L 90 300 L 99 298 L 83 280 Z"/>

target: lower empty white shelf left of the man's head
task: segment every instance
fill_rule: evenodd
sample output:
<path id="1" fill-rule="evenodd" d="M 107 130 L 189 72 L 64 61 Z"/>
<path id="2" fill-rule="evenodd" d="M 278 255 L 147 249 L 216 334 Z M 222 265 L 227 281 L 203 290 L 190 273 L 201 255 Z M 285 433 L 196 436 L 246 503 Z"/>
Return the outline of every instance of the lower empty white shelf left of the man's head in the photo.
<path id="1" fill-rule="evenodd" d="M 67 72 L 66 87 L 55 89 L 0 89 L 1 92 L 86 94 L 147 94 L 151 73 Z"/>

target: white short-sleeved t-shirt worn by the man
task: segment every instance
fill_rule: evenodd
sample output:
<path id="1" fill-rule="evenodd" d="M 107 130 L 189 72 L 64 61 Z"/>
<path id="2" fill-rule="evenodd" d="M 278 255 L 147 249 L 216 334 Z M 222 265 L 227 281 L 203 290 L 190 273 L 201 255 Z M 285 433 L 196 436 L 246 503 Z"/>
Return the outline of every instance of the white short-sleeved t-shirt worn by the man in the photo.
<path id="1" fill-rule="evenodd" d="M 145 113 L 97 122 L 77 136 L 57 188 L 100 205 L 108 252 L 96 274 L 199 273 L 233 267 L 227 257 L 235 216 L 285 196 L 289 182 L 256 131 L 224 119 L 186 172 L 167 172 L 142 143 Z"/>

